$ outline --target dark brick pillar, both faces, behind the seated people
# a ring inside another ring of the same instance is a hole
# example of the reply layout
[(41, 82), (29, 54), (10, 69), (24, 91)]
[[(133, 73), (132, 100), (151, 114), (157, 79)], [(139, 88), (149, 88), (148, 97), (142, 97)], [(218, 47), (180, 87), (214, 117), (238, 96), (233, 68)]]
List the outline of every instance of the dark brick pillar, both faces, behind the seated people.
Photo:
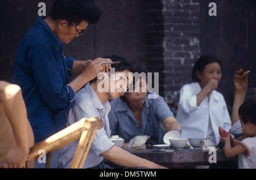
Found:
[(191, 83), (199, 57), (199, 0), (146, 1), (146, 61), (159, 72), (160, 95), (179, 101), (182, 85)]

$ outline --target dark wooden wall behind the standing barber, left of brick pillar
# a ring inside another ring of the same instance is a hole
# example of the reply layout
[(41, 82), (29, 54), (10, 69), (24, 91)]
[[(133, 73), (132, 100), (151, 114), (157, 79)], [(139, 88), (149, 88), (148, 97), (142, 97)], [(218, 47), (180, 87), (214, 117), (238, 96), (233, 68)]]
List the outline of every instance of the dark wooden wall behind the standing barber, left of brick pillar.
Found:
[[(39, 2), (47, 15), (53, 0), (0, 0), (0, 79), (10, 82), (22, 38), (38, 18)], [(94, 59), (119, 54), (132, 62), (144, 62), (144, 1), (96, 0), (102, 16), (85, 35), (64, 45), (66, 57)]]

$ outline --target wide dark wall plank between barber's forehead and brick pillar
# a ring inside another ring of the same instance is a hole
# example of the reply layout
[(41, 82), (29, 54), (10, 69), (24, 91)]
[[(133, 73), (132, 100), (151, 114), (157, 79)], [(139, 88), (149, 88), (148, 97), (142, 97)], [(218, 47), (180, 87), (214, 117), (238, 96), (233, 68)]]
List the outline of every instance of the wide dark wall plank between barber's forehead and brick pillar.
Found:
[(144, 1), (100, 0), (96, 24), (96, 55), (119, 54), (132, 62), (144, 62)]

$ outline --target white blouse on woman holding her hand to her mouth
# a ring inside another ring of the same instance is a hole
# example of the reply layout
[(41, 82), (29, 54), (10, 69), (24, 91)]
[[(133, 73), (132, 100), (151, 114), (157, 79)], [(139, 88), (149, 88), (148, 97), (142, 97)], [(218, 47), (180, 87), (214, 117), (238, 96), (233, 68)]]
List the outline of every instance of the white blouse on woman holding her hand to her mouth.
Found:
[(205, 97), (197, 107), (196, 95), (200, 91), (199, 83), (185, 84), (180, 90), (176, 119), (182, 127), (181, 138), (209, 138), (210, 136), (209, 145), (216, 146), (220, 142), (218, 127), (226, 131), (231, 127), (228, 108), (223, 95), (215, 90), (210, 93), (209, 99)]

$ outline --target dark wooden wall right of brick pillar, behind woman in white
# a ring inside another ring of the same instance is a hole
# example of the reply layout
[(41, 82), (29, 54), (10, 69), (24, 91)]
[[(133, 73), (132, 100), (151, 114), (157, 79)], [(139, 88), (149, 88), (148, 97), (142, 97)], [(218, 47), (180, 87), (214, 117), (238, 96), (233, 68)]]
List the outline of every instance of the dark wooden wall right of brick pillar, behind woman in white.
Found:
[[(217, 16), (209, 16), (209, 3), (216, 2)], [(256, 1), (200, 0), (200, 51), (222, 61), (219, 90), (233, 103), (233, 75), (242, 68), (249, 74), (249, 87), (256, 87)]]

